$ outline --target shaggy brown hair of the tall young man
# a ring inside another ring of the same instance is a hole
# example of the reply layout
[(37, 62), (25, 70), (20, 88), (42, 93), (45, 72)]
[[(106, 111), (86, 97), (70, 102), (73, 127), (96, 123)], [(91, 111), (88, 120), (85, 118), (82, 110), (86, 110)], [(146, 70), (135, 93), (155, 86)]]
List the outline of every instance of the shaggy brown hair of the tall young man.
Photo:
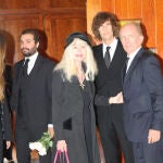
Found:
[(92, 24), (91, 24), (91, 30), (92, 30), (95, 37), (98, 38), (99, 40), (102, 39), (100, 36), (100, 33), (99, 33), (99, 27), (106, 21), (111, 22), (113, 35), (115, 37), (118, 36), (118, 25), (117, 25), (116, 15), (114, 15), (113, 13), (110, 13), (110, 12), (99, 12), (93, 17)]

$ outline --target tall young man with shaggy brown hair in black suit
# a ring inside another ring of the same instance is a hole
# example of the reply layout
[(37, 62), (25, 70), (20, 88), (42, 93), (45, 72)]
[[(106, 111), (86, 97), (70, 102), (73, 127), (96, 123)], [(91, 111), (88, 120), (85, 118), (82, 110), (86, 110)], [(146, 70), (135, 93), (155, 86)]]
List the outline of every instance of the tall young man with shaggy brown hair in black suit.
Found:
[[(124, 131), (123, 104), (121, 103), (123, 102), (121, 72), (126, 53), (117, 38), (118, 28), (115, 15), (109, 12), (98, 13), (92, 21), (92, 32), (102, 41), (101, 45), (93, 47), (99, 70), (96, 77), (95, 102), (105, 162), (121, 163), (122, 149), (125, 163), (134, 163), (131, 145)], [(109, 49), (108, 53), (106, 49)], [(105, 61), (106, 54), (109, 59)]]

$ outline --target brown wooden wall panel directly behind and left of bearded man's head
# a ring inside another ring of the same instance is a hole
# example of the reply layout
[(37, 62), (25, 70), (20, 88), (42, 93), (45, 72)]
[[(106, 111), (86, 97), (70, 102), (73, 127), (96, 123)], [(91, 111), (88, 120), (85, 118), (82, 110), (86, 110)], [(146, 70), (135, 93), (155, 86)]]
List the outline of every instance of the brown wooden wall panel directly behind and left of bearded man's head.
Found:
[(5, 15), (0, 18), (0, 29), (8, 36), (10, 50), (7, 60), (9, 63), (17, 62), (22, 58), (20, 51), (20, 35), (25, 28), (41, 28), (42, 17), (40, 15)]

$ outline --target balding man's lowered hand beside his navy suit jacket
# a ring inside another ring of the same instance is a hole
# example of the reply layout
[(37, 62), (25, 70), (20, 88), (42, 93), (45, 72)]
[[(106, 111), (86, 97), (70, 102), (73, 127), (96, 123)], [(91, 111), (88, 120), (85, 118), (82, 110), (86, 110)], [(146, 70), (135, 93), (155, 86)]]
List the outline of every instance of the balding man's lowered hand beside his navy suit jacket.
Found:
[(161, 138), (161, 131), (160, 130), (149, 129), (148, 143), (154, 143), (154, 142), (159, 141), (160, 138)]

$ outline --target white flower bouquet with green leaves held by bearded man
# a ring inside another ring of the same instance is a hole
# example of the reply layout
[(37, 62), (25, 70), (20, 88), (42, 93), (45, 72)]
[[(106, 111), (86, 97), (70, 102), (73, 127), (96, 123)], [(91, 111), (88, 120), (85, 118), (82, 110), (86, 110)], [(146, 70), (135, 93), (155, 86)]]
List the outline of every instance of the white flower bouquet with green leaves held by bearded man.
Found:
[(43, 133), (39, 140), (29, 142), (29, 149), (37, 150), (39, 155), (46, 155), (50, 147), (52, 147), (52, 140), (48, 133)]

